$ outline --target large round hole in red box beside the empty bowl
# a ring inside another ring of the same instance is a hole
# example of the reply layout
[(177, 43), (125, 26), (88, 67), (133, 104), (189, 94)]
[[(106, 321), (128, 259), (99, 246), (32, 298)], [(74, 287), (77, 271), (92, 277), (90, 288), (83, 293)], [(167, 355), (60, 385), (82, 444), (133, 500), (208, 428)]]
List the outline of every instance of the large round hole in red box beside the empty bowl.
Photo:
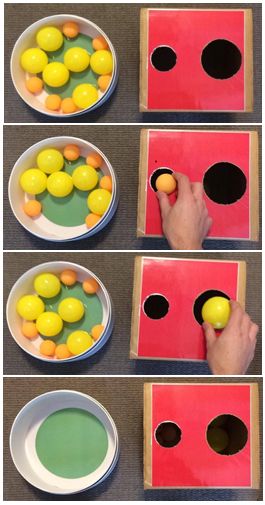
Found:
[(213, 451), (232, 456), (245, 447), (248, 429), (239, 417), (222, 414), (207, 426), (206, 439)]

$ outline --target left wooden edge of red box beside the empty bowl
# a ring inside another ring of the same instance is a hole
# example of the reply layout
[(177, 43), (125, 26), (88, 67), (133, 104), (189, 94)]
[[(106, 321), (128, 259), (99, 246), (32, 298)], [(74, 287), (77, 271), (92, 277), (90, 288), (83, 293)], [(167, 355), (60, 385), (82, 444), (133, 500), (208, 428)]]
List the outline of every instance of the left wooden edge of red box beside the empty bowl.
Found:
[(152, 489), (152, 387), (144, 384), (144, 489)]

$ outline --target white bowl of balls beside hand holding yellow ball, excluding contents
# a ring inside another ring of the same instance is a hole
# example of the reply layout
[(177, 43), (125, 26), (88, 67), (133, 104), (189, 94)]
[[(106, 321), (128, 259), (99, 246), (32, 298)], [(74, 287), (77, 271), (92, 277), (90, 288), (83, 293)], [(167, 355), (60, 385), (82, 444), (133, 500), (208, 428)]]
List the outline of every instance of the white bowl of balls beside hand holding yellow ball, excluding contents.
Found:
[[(103, 309), (103, 319), (102, 324), (104, 326), (104, 331), (100, 337), (100, 339), (95, 342), (95, 344), (88, 350), (74, 358), (67, 359), (56, 359), (56, 358), (48, 358), (43, 356), (40, 353), (40, 344), (42, 342), (41, 337), (37, 337), (34, 340), (27, 339), (22, 331), (22, 318), (16, 311), (16, 306), (18, 300), (26, 295), (26, 294), (34, 294), (34, 279), (36, 275), (40, 273), (54, 273), (56, 275), (63, 272), (63, 270), (74, 270), (77, 273), (77, 280), (79, 282), (83, 282), (88, 277), (93, 277), (99, 284), (100, 288), (97, 292), (97, 295), (101, 301), (102, 309)], [(36, 267), (31, 268), (27, 272), (25, 272), (14, 284), (12, 287), (7, 304), (6, 304), (6, 319), (7, 324), (10, 330), (12, 337), (15, 342), (19, 345), (23, 351), (25, 351), (30, 356), (37, 358), (41, 361), (46, 361), (48, 363), (66, 363), (71, 361), (79, 361), (83, 358), (88, 357), (89, 355), (95, 354), (98, 350), (102, 348), (102, 346), (109, 339), (112, 328), (113, 328), (113, 310), (111, 305), (111, 299), (109, 294), (101, 282), (101, 280), (90, 270), (75, 263), (66, 262), (66, 261), (52, 261), (49, 263), (42, 263)], [(104, 344), (103, 344), (104, 342)], [(93, 352), (92, 352), (93, 351)]]

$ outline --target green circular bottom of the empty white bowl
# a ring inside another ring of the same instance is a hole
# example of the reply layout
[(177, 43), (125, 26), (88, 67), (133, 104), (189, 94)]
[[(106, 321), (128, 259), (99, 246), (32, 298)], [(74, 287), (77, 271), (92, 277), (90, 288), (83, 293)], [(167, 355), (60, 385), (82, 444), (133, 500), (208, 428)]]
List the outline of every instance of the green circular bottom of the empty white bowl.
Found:
[(43, 466), (66, 479), (84, 477), (104, 461), (108, 450), (105, 427), (90, 412), (67, 408), (48, 416), (37, 432), (36, 452)]

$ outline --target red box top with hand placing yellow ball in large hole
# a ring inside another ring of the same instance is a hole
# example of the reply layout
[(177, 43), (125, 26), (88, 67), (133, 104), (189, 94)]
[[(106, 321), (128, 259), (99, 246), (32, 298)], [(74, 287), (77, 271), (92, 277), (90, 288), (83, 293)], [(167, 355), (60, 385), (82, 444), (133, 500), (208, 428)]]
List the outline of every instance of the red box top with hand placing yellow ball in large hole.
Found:
[[(143, 258), (138, 357), (204, 360), (205, 337), (193, 314), (196, 298), (209, 289), (237, 299), (238, 263)], [(169, 302), (162, 319), (149, 318), (144, 301), (154, 293)]]

